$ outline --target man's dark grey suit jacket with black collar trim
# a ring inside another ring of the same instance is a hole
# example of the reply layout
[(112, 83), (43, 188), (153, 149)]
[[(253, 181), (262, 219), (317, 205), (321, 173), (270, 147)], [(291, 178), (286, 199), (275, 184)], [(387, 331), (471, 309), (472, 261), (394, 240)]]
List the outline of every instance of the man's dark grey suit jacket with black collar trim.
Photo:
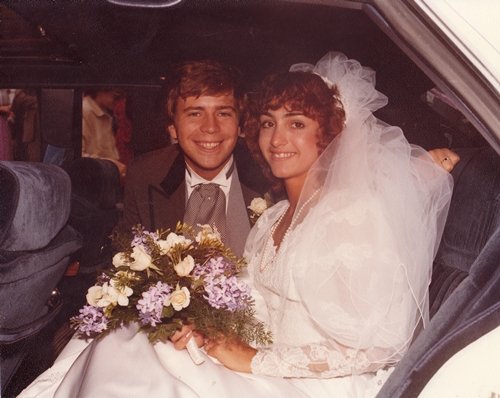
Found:
[[(248, 215), (246, 206), (253, 198), (262, 197), (269, 189), (269, 183), (242, 139), (238, 140), (233, 155), (244, 199), (244, 204), (239, 204), (238, 210), (239, 214), (244, 212)], [(159, 228), (175, 230), (177, 222), (184, 218), (186, 206), (185, 168), (184, 156), (177, 145), (135, 159), (127, 171), (124, 216), (118, 229), (129, 232), (132, 226), (140, 223), (148, 231)], [(237, 197), (237, 194), (233, 195), (232, 186), (229, 207)], [(249, 229), (250, 220), (245, 218), (245, 222), (248, 222), (246, 229)], [(228, 223), (232, 221), (228, 219)], [(233, 250), (237, 252), (235, 248)]]

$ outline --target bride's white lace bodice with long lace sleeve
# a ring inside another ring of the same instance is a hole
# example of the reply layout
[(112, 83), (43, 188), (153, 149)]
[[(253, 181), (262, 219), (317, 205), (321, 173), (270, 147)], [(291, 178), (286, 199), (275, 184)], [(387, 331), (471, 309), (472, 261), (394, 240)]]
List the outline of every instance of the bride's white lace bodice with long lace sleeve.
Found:
[[(278, 203), (266, 214), (267, 217), (259, 220), (255, 228), (270, 231), (276, 218), (285, 210), (286, 202)], [(359, 218), (363, 217), (359, 205), (351, 206), (347, 211), (350, 222), (358, 223)], [(343, 218), (339, 214), (334, 214), (334, 217), (338, 221)], [(292, 232), (293, 235), (301, 233), (304, 233), (301, 228)], [(260, 348), (254, 357), (253, 373), (279, 377), (331, 378), (376, 371), (383, 367), (386, 362), (379, 359), (391, 355), (387, 347), (349, 347), (332, 339), (312, 319), (301, 302), (293, 277), (293, 272), (302, 270), (301, 277), (307, 278), (309, 267), (309, 264), (297, 264), (298, 247), (293, 235), (284, 239), (274, 262), (264, 272), (261, 271), (261, 263), (266, 264), (276, 254), (275, 247), (270, 245), (268, 250), (262, 250), (267, 253), (267, 258), (263, 259), (261, 254), (249, 259), (249, 273), (266, 303), (267, 319), (274, 335), (272, 347)], [(365, 249), (370, 250), (369, 247)], [(311, 256), (314, 256), (314, 248), (311, 248)], [(311, 260), (313, 263), (314, 260)], [(291, 267), (290, 264), (295, 266)], [(337, 310), (339, 317), (341, 310)], [(345, 316), (349, 318), (347, 314)], [(349, 320), (344, 323), (348, 324)]]

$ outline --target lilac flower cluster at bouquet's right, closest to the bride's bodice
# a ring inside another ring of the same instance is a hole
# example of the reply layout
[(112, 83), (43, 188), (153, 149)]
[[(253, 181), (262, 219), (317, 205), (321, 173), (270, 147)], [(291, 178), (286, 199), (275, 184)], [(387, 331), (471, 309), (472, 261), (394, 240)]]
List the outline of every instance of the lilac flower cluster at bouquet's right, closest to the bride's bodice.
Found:
[(203, 297), (214, 308), (234, 312), (246, 308), (252, 298), (250, 286), (234, 276), (234, 266), (222, 257), (210, 259), (204, 266), (198, 265), (193, 274), (205, 282), (207, 295)]

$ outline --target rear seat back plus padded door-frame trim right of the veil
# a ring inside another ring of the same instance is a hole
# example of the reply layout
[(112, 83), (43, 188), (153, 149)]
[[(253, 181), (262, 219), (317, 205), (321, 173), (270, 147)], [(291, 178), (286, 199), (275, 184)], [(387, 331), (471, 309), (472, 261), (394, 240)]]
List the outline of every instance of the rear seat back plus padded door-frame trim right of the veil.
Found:
[(491, 148), (457, 152), (430, 288), (435, 315), (377, 398), (417, 397), (451, 356), (500, 325), (500, 156)]

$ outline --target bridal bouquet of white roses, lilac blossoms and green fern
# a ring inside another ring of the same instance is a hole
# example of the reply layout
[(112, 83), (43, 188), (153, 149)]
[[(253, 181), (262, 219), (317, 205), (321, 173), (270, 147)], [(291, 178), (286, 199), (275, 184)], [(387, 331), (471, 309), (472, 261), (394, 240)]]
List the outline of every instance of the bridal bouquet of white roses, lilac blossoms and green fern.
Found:
[(246, 265), (208, 225), (196, 236), (178, 224), (175, 232), (118, 234), (114, 268), (104, 270), (88, 290), (87, 305), (72, 327), (87, 336), (105, 335), (137, 322), (149, 341), (165, 341), (183, 324), (206, 335), (268, 344), (271, 335), (254, 320), (250, 288), (237, 278)]

